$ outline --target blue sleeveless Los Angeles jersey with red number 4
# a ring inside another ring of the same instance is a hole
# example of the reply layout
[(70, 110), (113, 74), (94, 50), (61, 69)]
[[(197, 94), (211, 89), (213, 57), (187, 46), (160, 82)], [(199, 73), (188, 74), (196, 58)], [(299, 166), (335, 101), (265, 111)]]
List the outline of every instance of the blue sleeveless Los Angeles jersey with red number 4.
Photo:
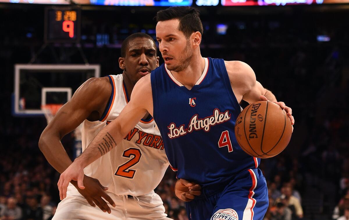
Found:
[(191, 90), (165, 65), (152, 71), (150, 78), (153, 116), (171, 168), (178, 178), (209, 186), (257, 168), (260, 159), (246, 154), (236, 141), (234, 126), (241, 108), (224, 60), (205, 61), (205, 70)]

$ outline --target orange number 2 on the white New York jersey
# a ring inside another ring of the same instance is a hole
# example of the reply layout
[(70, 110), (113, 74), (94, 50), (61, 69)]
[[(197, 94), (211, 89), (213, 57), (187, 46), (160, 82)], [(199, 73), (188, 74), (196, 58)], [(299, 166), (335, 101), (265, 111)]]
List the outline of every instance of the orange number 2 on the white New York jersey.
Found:
[(118, 167), (115, 175), (123, 176), (129, 179), (133, 178), (134, 174), (136, 173), (136, 170), (129, 169), (129, 168), (139, 162), (139, 160), (141, 159), (142, 153), (139, 149), (129, 148), (124, 151), (124, 154), (122, 154), (122, 157), (131, 158), (131, 156), (133, 156), (131, 160), (127, 161), (125, 164), (122, 164), (121, 166)]

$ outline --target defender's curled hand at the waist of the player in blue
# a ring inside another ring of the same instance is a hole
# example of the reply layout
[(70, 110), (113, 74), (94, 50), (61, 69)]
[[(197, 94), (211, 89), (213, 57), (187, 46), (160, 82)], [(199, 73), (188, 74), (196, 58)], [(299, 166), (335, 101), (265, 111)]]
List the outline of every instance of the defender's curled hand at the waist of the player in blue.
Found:
[(174, 193), (184, 202), (190, 202), (195, 196), (201, 195), (201, 186), (184, 179), (179, 179), (174, 186)]

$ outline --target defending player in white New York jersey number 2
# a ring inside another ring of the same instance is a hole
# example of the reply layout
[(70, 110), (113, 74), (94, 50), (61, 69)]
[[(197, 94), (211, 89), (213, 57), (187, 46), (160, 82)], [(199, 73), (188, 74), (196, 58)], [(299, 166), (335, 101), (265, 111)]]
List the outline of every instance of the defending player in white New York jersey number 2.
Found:
[[(58, 172), (72, 163), (60, 139), (83, 123), (84, 151), (98, 132), (118, 117), (135, 83), (158, 67), (158, 60), (154, 40), (143, 33), (133, 34), (121, 47), (119, 66), (123, 74), (91, 78), (76, 90), (39, 140), (40, 150)], [(105, 138), (110, 144), (101, 145), (101, 150), (109, 151), (113, 139)], [(86, 175), (80, 185), (84, 189), (75, 181), (69, 184), (67, 197), (59, 203), (53, 219), (169, 219), (154, 192), (168, 165), (159, 130), (147, 113), (112, 153), (84, 169)], [(181, 199), (200, 194), (199, 185), (186, 182), (189, 190), (183, 183), (176, 184), (176, 195)]]

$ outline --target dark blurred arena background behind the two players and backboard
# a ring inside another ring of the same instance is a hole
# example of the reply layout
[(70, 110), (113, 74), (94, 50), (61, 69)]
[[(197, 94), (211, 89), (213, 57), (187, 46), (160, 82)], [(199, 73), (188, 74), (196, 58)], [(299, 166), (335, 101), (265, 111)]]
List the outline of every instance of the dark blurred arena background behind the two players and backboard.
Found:
[[(122, 40), (140, 31), (155, 37), (153, 17), (163, 9), (82, 6), (80, 44), (50, 43), (37, 54), (44, 45), (45, 7), (0, 4), (0, 208), (15, 197), (23, 219), (29, 219), (25, 213), (45, 207), (49, 213), (47, 206), (57, 205), (59, 175), (37, 145), (45, 118), (11, 114), (14, 64), (29, 63), (35, 55), (34, 63), (82, 64), (77, 48), (81, 46), (89, 63), (101, 65), (101, 76), (120, 74)], [(269, 196), (280, 190), (281, 195), (282, 187), (291, 182), (301, 196), (304, 219), (332, 219), (335, 206), (343, 215), (349, 208), (348, 5), (199, 9), (202, 55), (246, 62), (257, 80), (293, 109), (296, 122), (289, 146), (260, 165)], [(217, 35), (217, 24), (228, 24), (226, 35)], [(318, 35), (331, 40), (318, 42)], [(62, 143), (72, 155), (73, 136), (67, 135)], [(168, 171), (156, 191), (170, 216), (184, 219), (183, 203), (173, 198), (174, 181), (175, 173)], [(40, 207), (30, 200), (34, 197), (40, 203), (45, 195), (50, 196), (48, 205)], [(266, 219), (275, 217), (275, 205), (272, 200)]]

